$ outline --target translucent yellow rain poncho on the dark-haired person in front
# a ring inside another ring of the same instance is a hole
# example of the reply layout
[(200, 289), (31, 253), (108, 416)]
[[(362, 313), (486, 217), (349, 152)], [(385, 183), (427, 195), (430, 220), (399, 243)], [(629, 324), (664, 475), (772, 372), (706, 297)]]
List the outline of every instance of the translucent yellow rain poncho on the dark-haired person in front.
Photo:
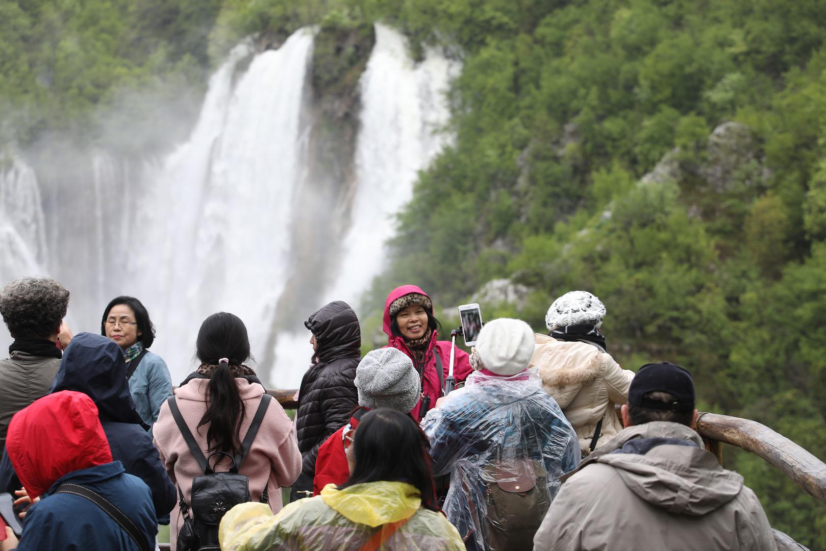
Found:
[(377, 549), (464, 551), (444, 515), (420, 505), (419, 491), (405, 482), (344, 490), (328, 484), (320, 496), (294, 501), (274, 516), (263, 503), (237, 505), (221, 520), (218, 537), (223, 551), (358, 551), (382, 525), (410, 517)]

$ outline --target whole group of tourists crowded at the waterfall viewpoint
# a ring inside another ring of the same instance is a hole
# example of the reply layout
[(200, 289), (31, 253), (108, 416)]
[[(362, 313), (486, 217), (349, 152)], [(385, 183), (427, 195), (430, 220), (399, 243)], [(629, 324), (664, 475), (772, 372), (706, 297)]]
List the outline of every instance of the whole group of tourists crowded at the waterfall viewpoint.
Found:
[(112, 300), (100, 335), (73, 335), (68, 303), (50, 278), (0, 290), (0, 551), (150, 551), (159, 524), (177, 551), (776, 549), (694, 430), (691, 373), (620, 368), (589, 292), (554, 301), (547, 333), (487, 322), (470, 354), (439, 340), (420, 287), (390, 292), (387, 346), (363, 358), (358, 317), (330, 302), (305, 322), (294, 420), (239, 317), (202, 322), (173, 391), (139, 300)]

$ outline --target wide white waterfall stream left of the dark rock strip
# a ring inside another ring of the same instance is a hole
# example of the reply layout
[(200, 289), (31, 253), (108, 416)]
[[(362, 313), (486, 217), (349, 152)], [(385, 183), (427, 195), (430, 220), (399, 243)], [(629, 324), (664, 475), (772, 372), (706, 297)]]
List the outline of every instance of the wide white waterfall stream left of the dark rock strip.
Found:
[(280, 49), (254, 56), (235, 86), (249, 49), (233, 50), (211, 78), (190, 139), (166, 160), (143, 202), (139, 225), (159, 250), (139, 254), (144, 265), (136, 268), (157, 268), (145, 287), (146, 296), (164, 295), (155, 314), (164, 346), (154, 349), (179, 377), (201, 321), (215, 311), (244, 320), (254, 356), (263, 356), (287, 279), (312, 41), (311, 31), (298, 31)]

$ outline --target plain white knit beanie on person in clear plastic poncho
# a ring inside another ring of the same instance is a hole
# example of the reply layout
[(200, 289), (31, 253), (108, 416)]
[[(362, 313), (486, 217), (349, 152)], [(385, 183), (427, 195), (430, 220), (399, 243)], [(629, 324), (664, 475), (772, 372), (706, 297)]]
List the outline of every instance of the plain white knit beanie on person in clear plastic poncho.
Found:
[(474, 368), (510, 377), (528, 367), (534, 355), (534, 331), (525, 321), (501, 317), (482, 327), (473, 349), (482, 362)]

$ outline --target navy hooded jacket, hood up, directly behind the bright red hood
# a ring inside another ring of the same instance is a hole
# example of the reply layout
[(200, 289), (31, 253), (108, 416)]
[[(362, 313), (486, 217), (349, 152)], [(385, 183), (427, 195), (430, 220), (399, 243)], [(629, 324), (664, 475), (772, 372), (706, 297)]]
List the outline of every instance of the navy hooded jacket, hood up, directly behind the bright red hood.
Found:
[[(155, 514), (159, 518), (168, 515), (175, 506), (175, 486), (152, 444), (152, 437), (146, 432), (149, 427), (135, 411), (121, 347), (102, 335), (74, 335), (49, 392), (62, 390), (83, 392), (92, 398), (109, 440), (112, 458), (123, 463), (126, 473), (139, 477), (150, 487)], [(0, 486), (12, 484), (10, 468), (4, 453)]]

